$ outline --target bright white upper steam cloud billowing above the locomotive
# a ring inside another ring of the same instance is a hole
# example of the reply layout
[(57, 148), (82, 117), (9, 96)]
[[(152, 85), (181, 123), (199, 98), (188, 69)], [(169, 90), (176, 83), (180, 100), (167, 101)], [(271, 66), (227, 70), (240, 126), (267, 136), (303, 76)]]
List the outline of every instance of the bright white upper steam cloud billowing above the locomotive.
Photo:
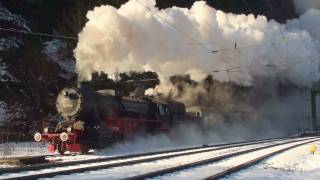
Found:
[(189, 73), (194, 80), (211, 74), (245, 86), (261, 76), (301, 86), (319, 79), (318, 10), (282, 25), (264, 16), (224, 13), (203, 1), (164, 10), (155, 0), (147, 2), (88, 12), (74, 51), (80, 79), (95, 71), (144, 70), (161, 78)]

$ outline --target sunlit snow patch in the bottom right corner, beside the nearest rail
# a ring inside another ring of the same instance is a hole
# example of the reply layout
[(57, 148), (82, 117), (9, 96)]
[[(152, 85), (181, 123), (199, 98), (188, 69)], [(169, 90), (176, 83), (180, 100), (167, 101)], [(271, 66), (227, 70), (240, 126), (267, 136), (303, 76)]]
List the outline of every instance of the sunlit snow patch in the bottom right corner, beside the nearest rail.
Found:
[(310, 154), (309, 146), (320, 150), (320, 142), (306, 144), (273, 156), (258, 165), (225, 179), (320, 179), (320, 152)]

